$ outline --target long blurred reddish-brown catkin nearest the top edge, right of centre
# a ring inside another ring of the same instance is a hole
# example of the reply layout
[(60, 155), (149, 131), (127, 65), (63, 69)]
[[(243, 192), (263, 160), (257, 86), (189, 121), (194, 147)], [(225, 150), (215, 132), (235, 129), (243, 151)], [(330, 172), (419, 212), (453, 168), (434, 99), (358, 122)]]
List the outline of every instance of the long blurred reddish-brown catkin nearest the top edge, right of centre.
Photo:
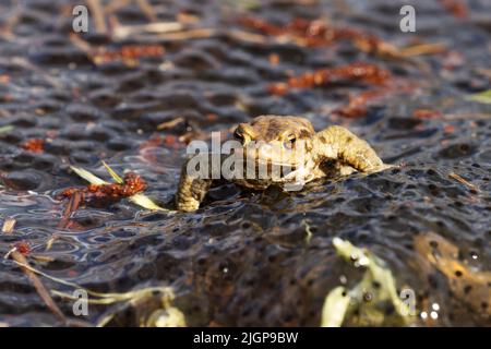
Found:
[(252, 16), (243, 16), (239, 22), (243, 26), (254, 28), (265, 35), (290, 36), (295, 41), (309, 47), (326, 46), (337, 40), (349, 40), (364, 52), (394, 53), (396, 51), (394, 46), (382, 41), (372, 34), (354, 28), (333, 27), (321, 20), (294, 19), (283, 26), (270, 24)]

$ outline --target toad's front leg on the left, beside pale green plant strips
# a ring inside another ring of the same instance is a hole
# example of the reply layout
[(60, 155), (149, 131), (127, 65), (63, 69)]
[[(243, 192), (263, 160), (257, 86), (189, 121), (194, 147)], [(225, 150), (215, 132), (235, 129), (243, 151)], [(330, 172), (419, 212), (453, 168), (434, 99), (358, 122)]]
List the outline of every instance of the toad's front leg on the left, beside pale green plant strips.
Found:
[(203, 178), (199, 173), (190, 172), (188, 159), (182, 166), (181, 178), (176, 193), (176, 208), (183, 212), (193, 212), (200, 208), (200, 204), (212, 185), (212, 179)]

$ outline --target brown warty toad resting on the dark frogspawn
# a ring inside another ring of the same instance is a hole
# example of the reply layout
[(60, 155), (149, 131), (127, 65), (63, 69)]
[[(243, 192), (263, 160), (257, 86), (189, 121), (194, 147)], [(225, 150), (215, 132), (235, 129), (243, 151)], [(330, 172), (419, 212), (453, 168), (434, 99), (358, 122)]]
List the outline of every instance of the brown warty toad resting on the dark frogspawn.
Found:
[[(238, 147), (230, 152), (236, 156), (230, 167), (232, 176), (223, 177), (255, 190), (272, 184), (299, 190), (318, 178), (346, 176), (356, 170), (374, 172), (390, 167), (366, 141), (349, 130), (333, 125), (315, 133), (304, 118), (262, 116), (239, 124), (233, 135), (240, 143), (236, 142)], [(209, 154), (205, 157), (211, 159)], [(221, 157), (220, 164), (224, 164)], [(208, 176), (191, 173), (189, 164), (190, 160), (182, 167), (176, 195), (177, 209), (184, 212), (199, 208), (213, 181), (209, 170), (206, 170)], [(224, 171), (223, 167), (220, 169)]]

